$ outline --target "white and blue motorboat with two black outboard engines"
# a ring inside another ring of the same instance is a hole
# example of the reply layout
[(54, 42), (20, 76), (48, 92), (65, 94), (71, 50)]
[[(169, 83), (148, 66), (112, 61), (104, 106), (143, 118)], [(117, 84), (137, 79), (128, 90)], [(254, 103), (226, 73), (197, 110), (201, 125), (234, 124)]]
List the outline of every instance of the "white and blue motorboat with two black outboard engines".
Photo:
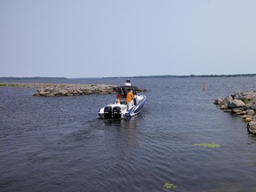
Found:
[[(104, 108), (100, 108), (98, 114), (100, 118), (105, 119), (120, 119), (120, 118), (130, 118), (136, 116), (140, 113), (143, 108), (147, 97), (145, 95), (137, 95), (138, 87), (132, 86), (130, 80), (126, 80), (124, 86), (119, 86), (114, 88), (116, 91), (116, 98), (120, 102), (110, 103)], [(133, 92), (133, 102), (128, 107), (126, 96), (127, 93), (132, 90)]]

